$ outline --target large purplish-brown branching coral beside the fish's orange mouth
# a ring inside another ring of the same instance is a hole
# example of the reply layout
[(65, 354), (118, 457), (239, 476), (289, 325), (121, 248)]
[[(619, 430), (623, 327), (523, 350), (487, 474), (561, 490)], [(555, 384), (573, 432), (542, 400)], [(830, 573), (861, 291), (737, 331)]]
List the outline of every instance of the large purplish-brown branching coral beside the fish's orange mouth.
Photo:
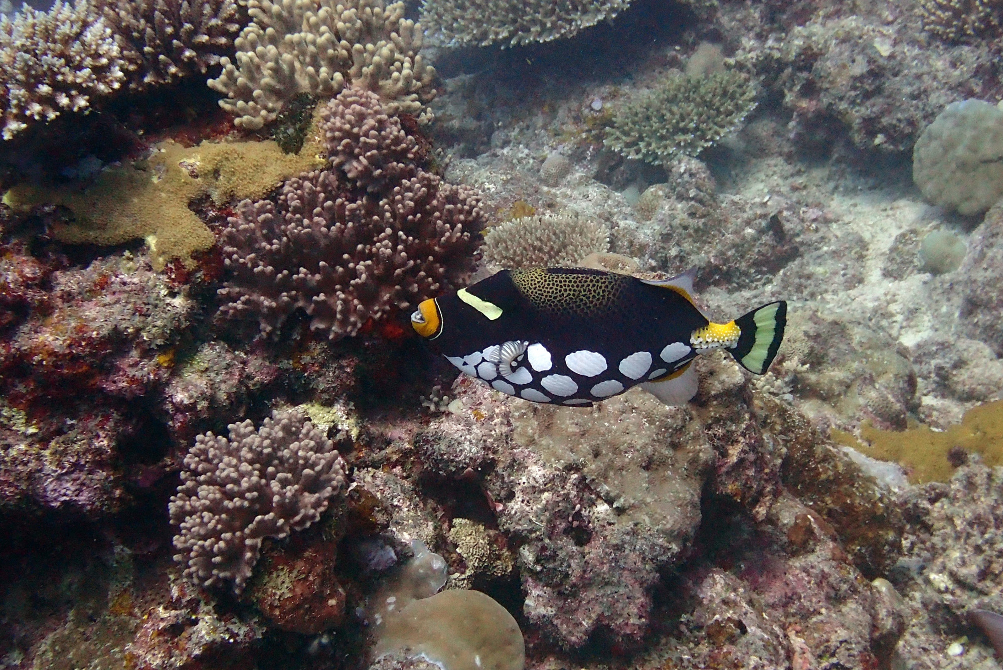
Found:
[(480, 243), (474, 192), (422, 170), (375, 94), (341, 93), (325, 132), (332, 171), (289, 180), (277, 204), (244, 201), (223, 233), (221, 313), (257, 318), (266, 335), (296, 309), (331, 339), (354, 335), (462, 283)]

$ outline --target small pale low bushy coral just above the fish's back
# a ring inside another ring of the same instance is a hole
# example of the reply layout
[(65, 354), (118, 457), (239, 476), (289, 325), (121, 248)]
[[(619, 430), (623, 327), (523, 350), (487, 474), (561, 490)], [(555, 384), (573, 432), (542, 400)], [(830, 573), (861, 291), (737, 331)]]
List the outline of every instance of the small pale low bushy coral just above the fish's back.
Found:
[(576, 265), (609, 249), (606, 229), (576, 214), (514, 219), (484, 236), (484, 262), (509, 269)]

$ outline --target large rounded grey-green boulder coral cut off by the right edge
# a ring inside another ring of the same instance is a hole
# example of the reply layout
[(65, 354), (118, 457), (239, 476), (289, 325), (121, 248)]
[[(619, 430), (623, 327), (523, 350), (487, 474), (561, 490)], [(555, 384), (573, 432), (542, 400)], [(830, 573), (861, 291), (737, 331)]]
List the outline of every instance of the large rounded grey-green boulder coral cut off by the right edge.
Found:
[(933, 204), (981, 214), (1003, 196), (1003, 109), (952, 102), (913, 148), (913, 181)]

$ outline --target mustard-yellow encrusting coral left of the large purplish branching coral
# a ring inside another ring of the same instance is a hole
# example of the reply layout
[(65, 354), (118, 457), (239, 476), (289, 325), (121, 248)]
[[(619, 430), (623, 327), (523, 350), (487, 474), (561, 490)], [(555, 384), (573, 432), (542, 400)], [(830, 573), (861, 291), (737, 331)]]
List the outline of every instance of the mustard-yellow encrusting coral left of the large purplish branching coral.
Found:
[(317, 140), (299, 153), (284, 153), (274, 141), (211, 142), (185, 147), (157, 145), (145, 160), (102, 172), (89, 188), (19, 185), (5, 202), (15, 209), (52, 203), (69, 208), (76, 221), (53, 227), (68, 244), (117, 245), (143, 239), (156, 269), (172, 258), (192, 263), (192, 254), (216, 238), (189, 204), (209, 196), (218, 205), (262, 198), (283, 180), (323, 164)]

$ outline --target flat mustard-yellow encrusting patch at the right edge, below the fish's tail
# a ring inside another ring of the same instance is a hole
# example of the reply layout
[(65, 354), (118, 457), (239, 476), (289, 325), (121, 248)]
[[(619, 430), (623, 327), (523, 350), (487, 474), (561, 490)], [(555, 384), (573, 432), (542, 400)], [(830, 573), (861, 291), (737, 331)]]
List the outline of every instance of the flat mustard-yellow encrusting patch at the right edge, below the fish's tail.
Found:
[(973, 407), (960, 424), (943, 431), (925, 425), (882, 430), (865, 421), (860, 438), (832, 430), (832, 439), (872, 458), (898, 462), (914, 483), (947, 481), (965, 452), (981, 454), (989, 466), (1003, 465), (1003, 400)]

